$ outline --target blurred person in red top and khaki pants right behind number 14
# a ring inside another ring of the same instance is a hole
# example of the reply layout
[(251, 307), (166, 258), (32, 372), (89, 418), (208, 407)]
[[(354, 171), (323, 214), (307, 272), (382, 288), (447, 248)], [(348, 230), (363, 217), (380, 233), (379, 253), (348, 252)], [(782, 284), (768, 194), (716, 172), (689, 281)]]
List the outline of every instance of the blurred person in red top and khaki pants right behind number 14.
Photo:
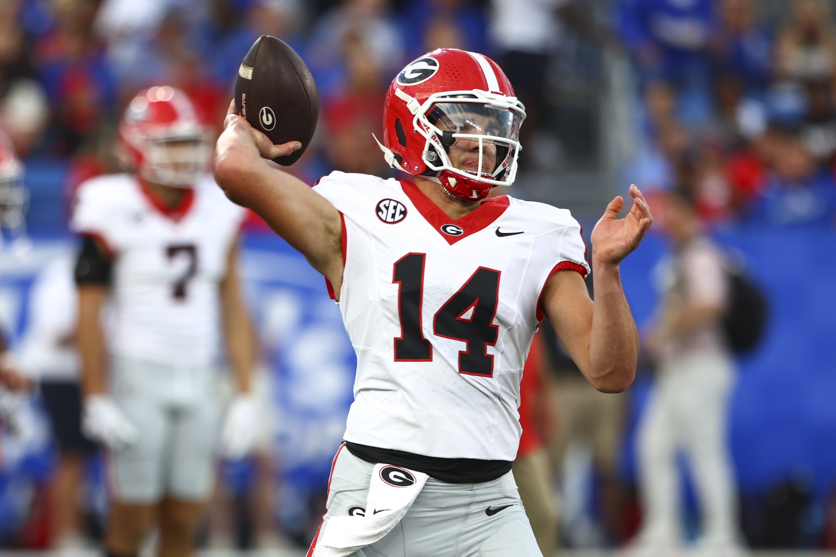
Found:
[(558, 501), (545, 449), (545, 439), (552, 436), (554, 413), (545, 383), (548, 370), (543, 344), (540, 330), (534, 334), (520, 381), (519, 414), (523, 434), (511, 469), (538, 547), (543, 555), (551, 556), (558, 550)]

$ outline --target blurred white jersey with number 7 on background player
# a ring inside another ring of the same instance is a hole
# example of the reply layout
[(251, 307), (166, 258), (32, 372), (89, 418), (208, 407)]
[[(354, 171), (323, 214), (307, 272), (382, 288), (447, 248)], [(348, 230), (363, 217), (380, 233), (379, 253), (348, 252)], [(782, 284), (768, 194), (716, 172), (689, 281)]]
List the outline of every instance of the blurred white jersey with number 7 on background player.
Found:
[(170, 365), (205, 366), (221, 341), (219, 285), (244, 210), (211, 176), (166, 212), (134, 176), (79, 186), (70, 227), (114, 257), (110, 351)]

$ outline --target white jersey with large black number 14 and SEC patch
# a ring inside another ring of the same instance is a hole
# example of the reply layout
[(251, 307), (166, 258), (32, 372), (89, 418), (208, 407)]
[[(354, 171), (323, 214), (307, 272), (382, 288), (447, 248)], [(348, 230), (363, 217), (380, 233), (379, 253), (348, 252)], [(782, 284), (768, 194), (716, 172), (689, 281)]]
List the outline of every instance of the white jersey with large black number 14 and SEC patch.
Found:
[(411, 182), (360, 174), (314, 190), (344, 222), (339, 307), (357, 352), (345, 440), (512, 461), (543, 286), (589, 271), (578, 222), (507, 196), (452, 221)]

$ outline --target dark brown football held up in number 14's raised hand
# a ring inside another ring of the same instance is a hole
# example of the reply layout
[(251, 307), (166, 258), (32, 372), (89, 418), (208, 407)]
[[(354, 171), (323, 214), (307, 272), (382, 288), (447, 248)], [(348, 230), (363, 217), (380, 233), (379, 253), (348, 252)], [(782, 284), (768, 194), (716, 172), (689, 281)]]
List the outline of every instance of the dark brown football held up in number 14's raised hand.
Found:
[(235, 110), (278, 145), (299, 141), (302, 148), (273, 161), (290, 166), (299, 160), (319, 118), (319, 93), (308, 66), (287, 43), (262, 35), (238, 68)]

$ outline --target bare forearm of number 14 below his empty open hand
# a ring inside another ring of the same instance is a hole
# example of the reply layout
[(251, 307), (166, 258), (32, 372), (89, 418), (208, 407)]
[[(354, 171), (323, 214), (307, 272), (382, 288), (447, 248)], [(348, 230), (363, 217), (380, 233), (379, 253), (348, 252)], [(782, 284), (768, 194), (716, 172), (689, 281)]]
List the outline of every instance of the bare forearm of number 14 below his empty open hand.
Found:
[(595, 306), (588, 377), (599, 391), (621, 392), (633, 382), (639, 334), (621, 287), (619, 266), (593, 261)]

